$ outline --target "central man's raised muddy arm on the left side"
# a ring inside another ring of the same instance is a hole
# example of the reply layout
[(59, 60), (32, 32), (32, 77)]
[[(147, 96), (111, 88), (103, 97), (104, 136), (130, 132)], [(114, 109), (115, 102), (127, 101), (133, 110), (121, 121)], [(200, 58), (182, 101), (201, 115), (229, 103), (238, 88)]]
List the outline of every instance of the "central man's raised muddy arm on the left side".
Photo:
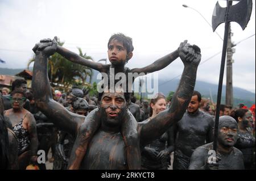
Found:
[(32, 77), (32, 90), (36, 106), (56, 127), (76, 135), (77, 128), (85, 117), (66, 110), (61, 104), (52, 99), (51, 86), (47, 74), (47, 58), (56, 50), (57, 44), (45, 42), (36, 44), (33, 48), (36, 56)]

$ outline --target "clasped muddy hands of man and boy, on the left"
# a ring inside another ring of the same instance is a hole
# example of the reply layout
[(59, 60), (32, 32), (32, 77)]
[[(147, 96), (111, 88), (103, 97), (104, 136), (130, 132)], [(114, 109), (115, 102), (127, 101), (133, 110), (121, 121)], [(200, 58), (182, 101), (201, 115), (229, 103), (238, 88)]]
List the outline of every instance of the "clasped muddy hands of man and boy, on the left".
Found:
[(40, 40), (40, 43), (37, 43), (32, 50), (35, 53), (42, 52), (47, 56), (51, 56), (57, 50), (57, 37), (55, 36), (53, 40), (51, 39)]

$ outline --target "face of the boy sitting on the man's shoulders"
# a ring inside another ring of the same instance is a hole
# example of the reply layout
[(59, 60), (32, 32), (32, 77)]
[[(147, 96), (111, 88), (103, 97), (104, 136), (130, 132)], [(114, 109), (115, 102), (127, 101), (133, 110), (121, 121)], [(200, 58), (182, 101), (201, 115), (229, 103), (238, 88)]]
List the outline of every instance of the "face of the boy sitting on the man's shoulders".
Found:
[(123, 47), (123, 43), (112, 40), (108, 47), (109, 61), (113, 65), (125, 65), (127, 58), (127, 50)]

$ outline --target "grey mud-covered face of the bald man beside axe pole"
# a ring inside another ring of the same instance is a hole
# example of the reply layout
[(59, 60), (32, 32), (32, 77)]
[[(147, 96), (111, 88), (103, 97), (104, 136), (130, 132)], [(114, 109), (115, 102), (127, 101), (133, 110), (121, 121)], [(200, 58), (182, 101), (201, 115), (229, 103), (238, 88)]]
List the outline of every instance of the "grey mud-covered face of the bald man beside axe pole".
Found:
[(218, 142), (225, 146), (234, 146), (237, 142), (237, 123), (236, 121), (225, 120), (219, 125)]

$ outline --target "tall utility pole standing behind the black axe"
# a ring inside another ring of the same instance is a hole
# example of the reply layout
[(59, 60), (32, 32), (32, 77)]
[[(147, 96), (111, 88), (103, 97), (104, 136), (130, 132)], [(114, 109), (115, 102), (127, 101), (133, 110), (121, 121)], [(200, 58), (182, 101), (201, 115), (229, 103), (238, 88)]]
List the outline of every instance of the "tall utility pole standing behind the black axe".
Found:
[(232, 47), (231, 36), (233, 33), (231, 32), (231, 28), (229, 26), (228, 33), (228, 45), (226, 48), (226, 105), (233, 107), (233, 79), (232, 79), (232, 64), (234, 60), (232, 60), (232, 56), (234, 50)]

